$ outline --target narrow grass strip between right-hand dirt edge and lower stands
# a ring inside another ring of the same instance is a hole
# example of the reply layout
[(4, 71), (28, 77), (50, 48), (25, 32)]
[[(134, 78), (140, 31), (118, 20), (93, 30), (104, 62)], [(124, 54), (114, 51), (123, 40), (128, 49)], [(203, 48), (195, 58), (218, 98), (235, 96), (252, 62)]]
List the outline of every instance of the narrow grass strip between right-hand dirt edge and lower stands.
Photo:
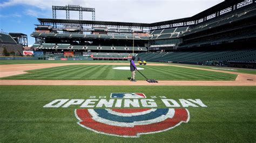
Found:
[[(232, 71), (235, 73), (244, 73), (244, 74), (254, 74), (256, 75), (256, 69), (245, 69), (245, 68), (232, 68), (232, 67), (216, 67), (216, 66), (201, 66), (201, 65), (188, 65), (188, 64), (180, 64), (180, 63), (167, 63), (169, 65), (178, 65), (184, 67), (196, 67), (196, 68), (205, 68), (205, 69), (214, 69), (214, 70), (221, 70), (221, 71)], [(234, 70), (225, 70), (225, 69), (234, 69)]]

